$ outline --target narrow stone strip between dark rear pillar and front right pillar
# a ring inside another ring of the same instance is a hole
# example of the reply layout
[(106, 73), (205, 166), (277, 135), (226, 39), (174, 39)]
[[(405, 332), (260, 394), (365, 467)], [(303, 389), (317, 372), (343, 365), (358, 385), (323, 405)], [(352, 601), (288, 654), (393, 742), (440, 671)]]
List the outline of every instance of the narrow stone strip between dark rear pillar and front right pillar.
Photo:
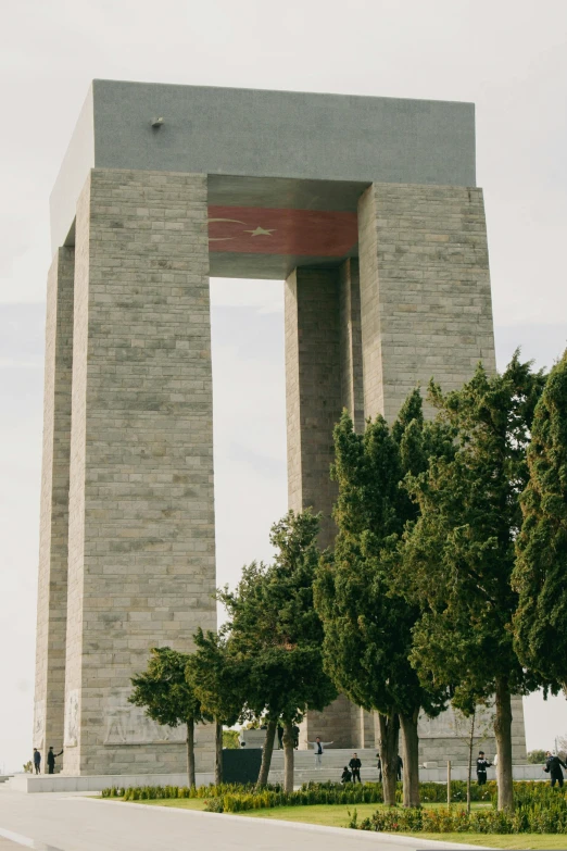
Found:
[(358, 260), (345, 260), (339, 268), (341, 400), (354, 423), (364, 431), (364, 388), (361, 330), (361, 281)]

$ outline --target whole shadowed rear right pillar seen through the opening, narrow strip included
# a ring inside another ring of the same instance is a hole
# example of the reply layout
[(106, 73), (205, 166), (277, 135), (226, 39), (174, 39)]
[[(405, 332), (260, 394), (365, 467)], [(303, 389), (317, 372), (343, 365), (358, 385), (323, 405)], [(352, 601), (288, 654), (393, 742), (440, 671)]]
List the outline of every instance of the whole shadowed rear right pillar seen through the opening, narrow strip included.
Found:
[[(362, 358), (356, 261), (339, 270), (297, 268), (286, 281), (286, 391), (289, 506), (324, 514), (319, 542), (332, 543), (337, 486), (330, 480), (332, 429), (342, 408), (362, 421)], [(310, 710), (300, 742), (320, 736), (348, 748), (360, 711), (344, 694), (325, 712)]]

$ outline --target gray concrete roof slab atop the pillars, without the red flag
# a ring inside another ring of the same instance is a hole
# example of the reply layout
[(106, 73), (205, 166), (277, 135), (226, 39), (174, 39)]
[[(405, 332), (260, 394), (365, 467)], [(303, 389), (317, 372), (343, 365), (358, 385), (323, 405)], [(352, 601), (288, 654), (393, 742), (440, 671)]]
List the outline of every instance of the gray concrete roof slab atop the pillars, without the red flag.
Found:
[[(152, 127), (158, 117), (163, 124)], [(373, 180), (475, 186), (475, 108), (94, 80), (51, 196), (53, 251), (73, 240), (76, 200), (92, 167), (204, 173), (217, 208), (354, 212)], [(344, 255), (352, 253), (355, 246)], [(293, 264), (331, 262), (226, 251), (212, 251), (211, 261), (213, 275), (236, 277), (282, 277)]]

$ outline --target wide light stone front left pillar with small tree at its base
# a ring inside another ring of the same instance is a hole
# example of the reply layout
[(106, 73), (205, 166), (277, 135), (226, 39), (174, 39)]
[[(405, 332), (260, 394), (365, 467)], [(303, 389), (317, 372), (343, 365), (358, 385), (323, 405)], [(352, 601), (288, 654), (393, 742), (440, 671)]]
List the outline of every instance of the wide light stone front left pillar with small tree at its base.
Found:
[[(216, 627), (206, 216), (200, 174), (93, 170), (78, 200), (65, 774), (185, 771), (127, 698)], [(198, 772), (212, 750), (199, 727)]]

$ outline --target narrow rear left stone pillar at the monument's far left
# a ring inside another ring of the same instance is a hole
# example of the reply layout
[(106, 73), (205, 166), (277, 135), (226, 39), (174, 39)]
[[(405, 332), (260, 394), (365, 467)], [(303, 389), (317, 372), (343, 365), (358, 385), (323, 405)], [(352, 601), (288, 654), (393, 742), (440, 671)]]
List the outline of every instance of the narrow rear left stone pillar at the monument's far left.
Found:
[(63, 744), (74, 265), (74, 249), (60, 248), (47, 292), (34, 712), (34, 747), (41, 751), (43, 769), (49, 746), (61, 750)]

